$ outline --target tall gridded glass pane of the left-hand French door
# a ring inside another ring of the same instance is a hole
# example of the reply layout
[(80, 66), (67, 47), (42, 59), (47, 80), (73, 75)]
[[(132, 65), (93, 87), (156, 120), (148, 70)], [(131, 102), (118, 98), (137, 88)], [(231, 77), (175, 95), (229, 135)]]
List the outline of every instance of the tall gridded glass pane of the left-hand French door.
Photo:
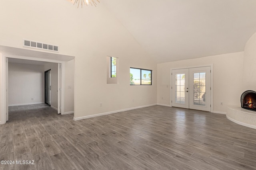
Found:
[(185, 74), (175, 75), (175, 102), (185, 104)]

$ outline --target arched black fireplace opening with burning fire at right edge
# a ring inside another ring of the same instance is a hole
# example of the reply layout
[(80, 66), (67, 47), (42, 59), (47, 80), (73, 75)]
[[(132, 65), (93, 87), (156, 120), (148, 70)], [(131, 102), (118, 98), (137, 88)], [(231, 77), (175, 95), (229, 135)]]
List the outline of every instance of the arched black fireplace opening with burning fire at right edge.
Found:
[(241, 107), (256, 111), (256, 92), (252, 90), (245, 91), (241, 96)]

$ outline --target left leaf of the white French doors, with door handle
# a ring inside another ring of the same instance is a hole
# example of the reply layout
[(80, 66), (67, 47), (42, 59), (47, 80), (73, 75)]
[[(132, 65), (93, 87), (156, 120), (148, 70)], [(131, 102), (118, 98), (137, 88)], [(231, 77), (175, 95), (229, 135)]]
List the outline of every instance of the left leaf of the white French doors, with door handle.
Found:
[(189, 70), (172, 70), (172, 106), (189, 108)]

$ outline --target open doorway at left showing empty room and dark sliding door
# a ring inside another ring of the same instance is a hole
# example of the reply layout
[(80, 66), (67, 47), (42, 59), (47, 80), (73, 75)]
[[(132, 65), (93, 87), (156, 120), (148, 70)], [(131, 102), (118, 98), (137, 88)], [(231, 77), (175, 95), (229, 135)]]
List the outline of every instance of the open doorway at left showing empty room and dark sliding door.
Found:
[[(12, 109), (50, 106), (61, 113), (60, 63), (7, 58), (8, 118)], [(47, 105), (45, 105), (47, 104)]]

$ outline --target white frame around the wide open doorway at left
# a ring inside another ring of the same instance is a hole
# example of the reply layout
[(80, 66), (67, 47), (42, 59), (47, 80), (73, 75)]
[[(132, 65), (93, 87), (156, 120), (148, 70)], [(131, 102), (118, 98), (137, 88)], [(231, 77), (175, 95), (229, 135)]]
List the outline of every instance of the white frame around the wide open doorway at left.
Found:
[[(41, 53), (37, 51), (38, 53)], [(35, 58), (35, 57), (25, 57), (25, 56), (20, 56), (20, 55), (11, 55), (8, 53), (0, 53), (0, 59), (1, 59), (1, 64), (0, 64), (0, 69), (1, 69), (1, 82), (0, 82), (0, 87), (1, 87), (1, 95), (0, 95), (0, 117), (1, 121), (0, 124), (6, 123), (8, 120), (8, 58), (15, 58), (15, 59), (25, 59), (25, 60), (33, 60), (33, 61), (45, 61), (45, 62), (50, 62), (50, 63), (60, 63), (61, 64), (61, 75), (59, 75), (59, 80), (61, 80), (59, 84), (62, 84), (62, 87), (65, 86), (65, 61), (59, 61), (59, 60), (52, 60), (52, 59), (44, 59), (44, 58)], [(58, 89), (60, 89), (58, 87)], [(58, 93), (58, 96), (60, 96), (60, 102), (58, 102), (58, 114), (64, 114), (65, 113), (65, 88), (60, 90), (60, 93)]]

